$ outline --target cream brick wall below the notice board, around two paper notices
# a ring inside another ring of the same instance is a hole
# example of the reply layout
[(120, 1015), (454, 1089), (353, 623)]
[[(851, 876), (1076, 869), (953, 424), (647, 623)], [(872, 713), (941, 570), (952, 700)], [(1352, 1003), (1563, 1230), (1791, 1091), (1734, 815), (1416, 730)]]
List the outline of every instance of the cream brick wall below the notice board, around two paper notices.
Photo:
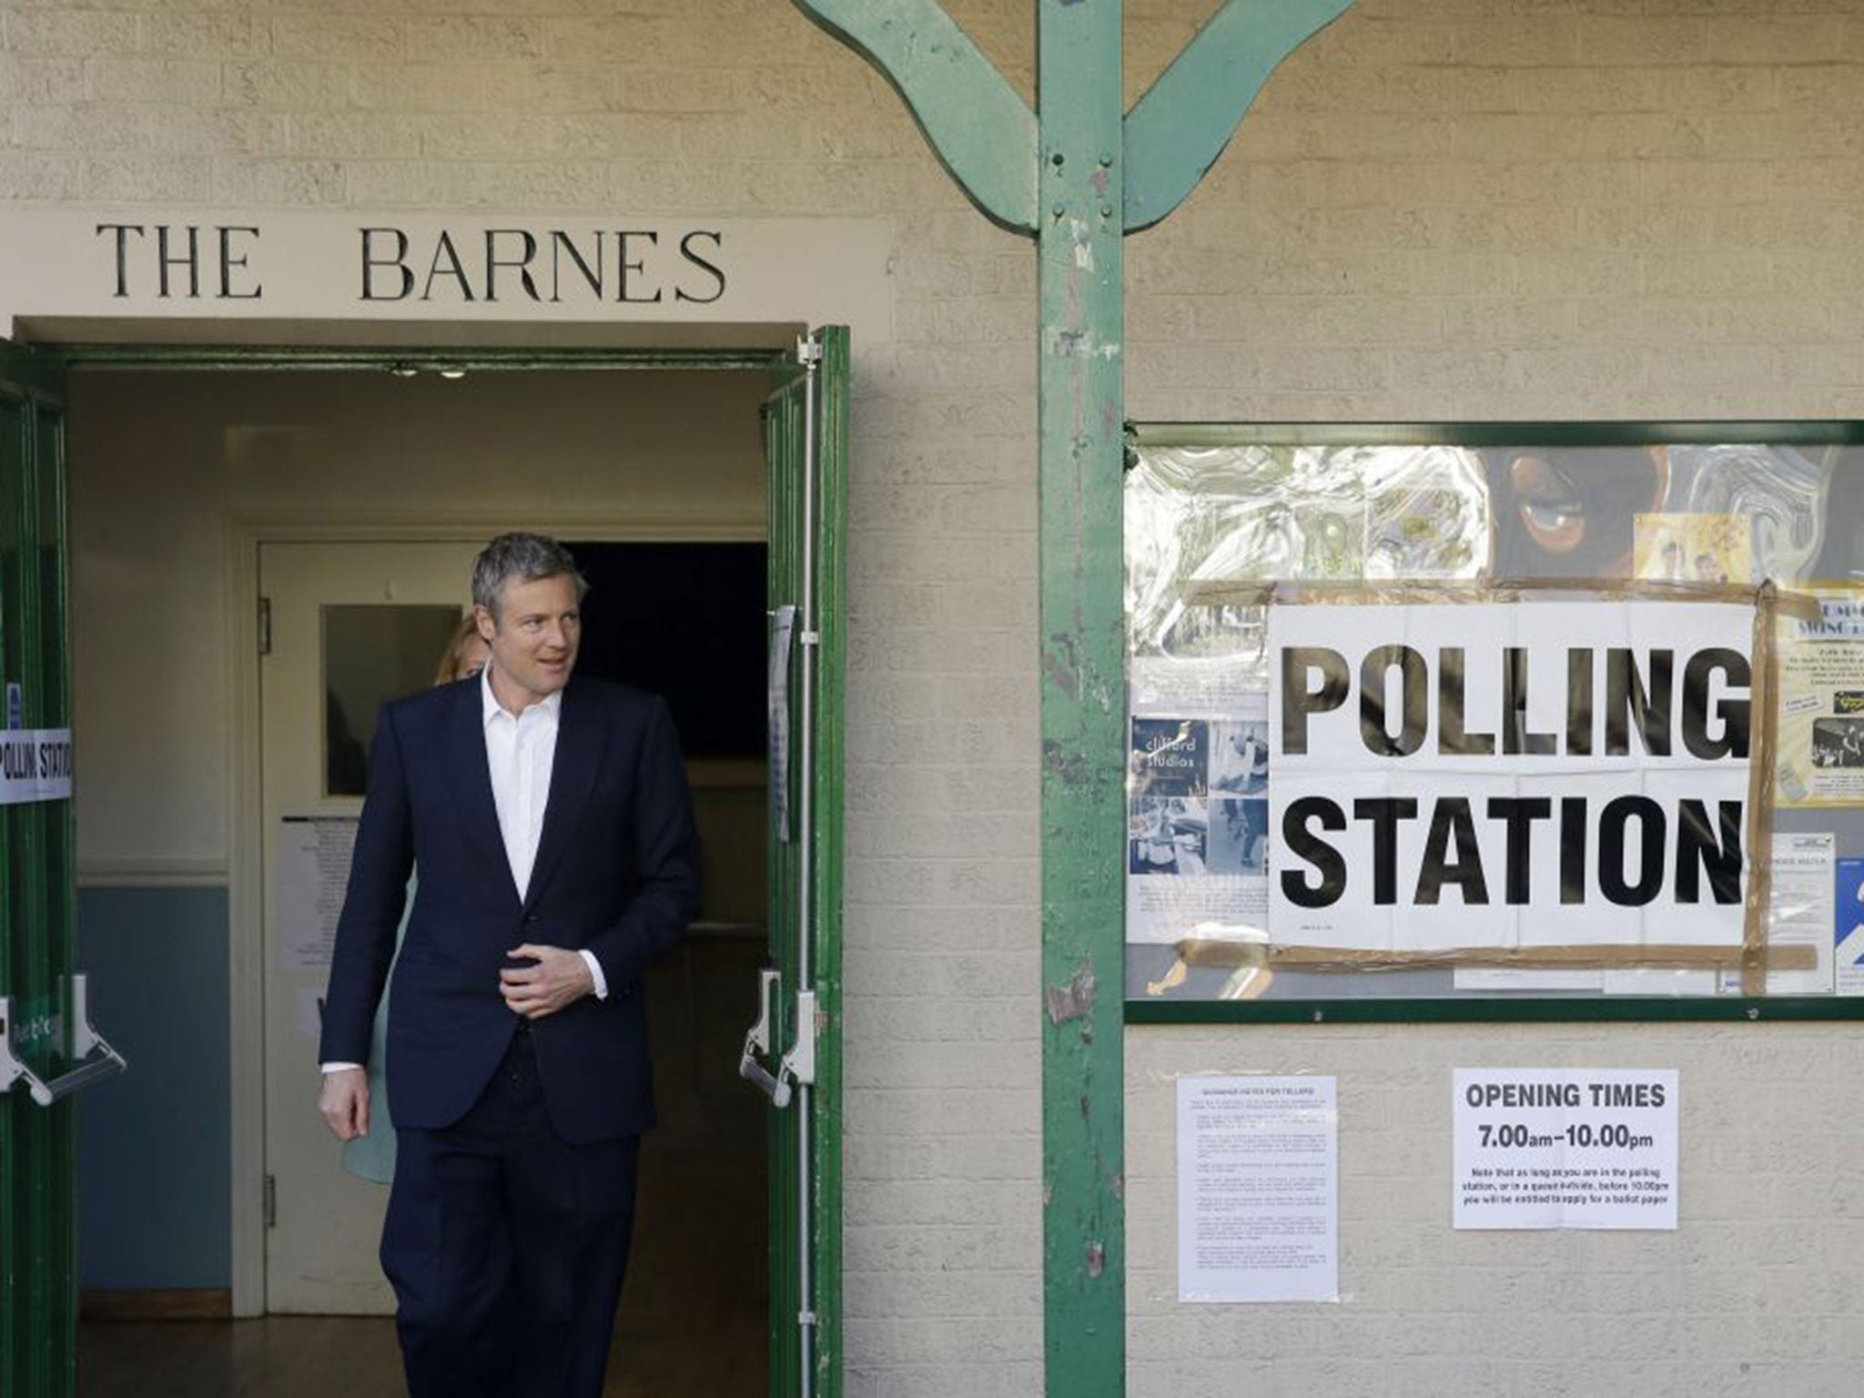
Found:
[[(1857, 1392), (1857, 1057), (1817, 1025), (1137, 1035), (1128, 1394)], [(1679, 1070), (1678, 1232), (1450, 1232), (1450, 1072), (1512, 1064)], [(1178, 1305), (1182, 1072), (1338, 1076), (1338, 1305)]]

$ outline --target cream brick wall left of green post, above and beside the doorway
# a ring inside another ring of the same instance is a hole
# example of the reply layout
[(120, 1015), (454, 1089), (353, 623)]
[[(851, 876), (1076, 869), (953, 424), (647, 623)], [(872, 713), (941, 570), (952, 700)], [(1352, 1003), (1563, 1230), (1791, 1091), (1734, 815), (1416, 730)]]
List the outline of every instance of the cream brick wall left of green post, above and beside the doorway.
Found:
[[(966, 17), (1014, 50), (1016, 11)], [(772, 0), (6, 2), (0, 198), (898, 220), (856, 343), (848, 1387), (1038, 1392), (1029, 248)]]

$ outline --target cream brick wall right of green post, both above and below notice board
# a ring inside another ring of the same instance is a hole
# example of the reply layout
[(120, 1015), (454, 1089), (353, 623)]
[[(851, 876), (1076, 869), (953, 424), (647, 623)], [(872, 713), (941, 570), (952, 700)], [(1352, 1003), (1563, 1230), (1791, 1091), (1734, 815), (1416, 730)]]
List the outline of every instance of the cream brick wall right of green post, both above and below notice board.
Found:
[[(1130, 75), (1189, 30), (1133, 7)], [(1864, 6), (1361, 0), (1128, 244), (1139, 419), (1855, 418)], [(1128, 1040), (1131, 1398), (1857, 1387), (1853, 1027)], [(1450, 1070), (1681, 1072), (1676, 1234), (1454, 1234)], [(1336, 1307), (1176, 1301), (1174, 1077), (1340, 1083)]]

